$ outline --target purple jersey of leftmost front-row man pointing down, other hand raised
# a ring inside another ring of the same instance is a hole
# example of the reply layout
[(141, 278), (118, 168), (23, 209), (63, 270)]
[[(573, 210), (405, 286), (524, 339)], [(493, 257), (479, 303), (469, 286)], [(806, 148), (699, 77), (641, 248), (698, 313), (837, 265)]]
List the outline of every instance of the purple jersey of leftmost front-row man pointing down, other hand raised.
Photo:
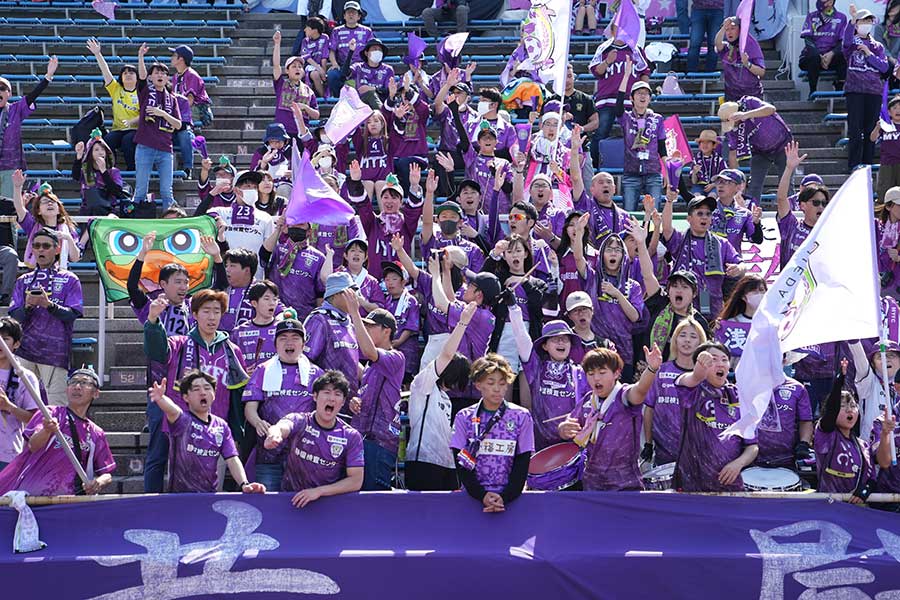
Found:
[(237, 456), (231, 428), (221, 417), (202, 421), (183, 410), (169, 423), (169, 491), (215, 493), (219, 456)]

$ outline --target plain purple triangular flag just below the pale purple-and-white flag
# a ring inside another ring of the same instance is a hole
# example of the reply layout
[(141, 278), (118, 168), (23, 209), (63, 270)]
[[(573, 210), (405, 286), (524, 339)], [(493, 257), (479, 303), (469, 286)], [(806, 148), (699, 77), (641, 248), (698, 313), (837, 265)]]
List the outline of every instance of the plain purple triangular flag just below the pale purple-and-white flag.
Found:
[(284, 211), (288, 225), (318, 223), (319, 225), (346, 225), (355, 214), (340, 194), (322, 181), (319, 173), (309, 162), (309, 153), (303, 156), (294, 149), (291, 157), (294, 187), (291, 199)]

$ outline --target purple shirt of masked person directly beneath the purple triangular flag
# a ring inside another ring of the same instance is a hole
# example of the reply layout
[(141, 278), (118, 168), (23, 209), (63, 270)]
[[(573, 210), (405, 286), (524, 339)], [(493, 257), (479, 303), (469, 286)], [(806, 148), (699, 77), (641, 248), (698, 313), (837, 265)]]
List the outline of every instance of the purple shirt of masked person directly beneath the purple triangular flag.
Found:
[[(319, 273), (325, 255), (304, 242), (303, 248), (282, 235), (269, 261), (269, 279), (278, 286), (281, 299), (297, 311), (302, 321), (316, 307), (316, 299), (325, 292)], [(288, 262), (293, 256), (293, 264)], [(285, 274), (285, 271), (287, 273)]]

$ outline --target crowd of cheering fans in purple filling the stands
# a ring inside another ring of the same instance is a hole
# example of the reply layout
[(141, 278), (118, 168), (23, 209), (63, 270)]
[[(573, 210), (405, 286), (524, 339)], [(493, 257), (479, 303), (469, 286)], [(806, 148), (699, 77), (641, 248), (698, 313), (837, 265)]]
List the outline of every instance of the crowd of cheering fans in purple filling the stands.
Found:
[[(595, 6), (577, 3), (578, 22), (596, 26)], [(887, 10), (886, 44), (868, 11), (851, 7), (848, 18), (826, 0), (807, 17), (801, 62), (813, 90), (822, 70), (837, 72), (851, 168), (873, 162), (879, 137), (883, 157), (897, 154), (897, 138), (875, 125), (896, 63), (885, 46), (896, 47), (897, 6)], [(274, 32), (272, 123), (243, 171), (227, 157), (194, 167), (192, 128), (214, 117), (189, 47), (172, 48), (169, 65), (148, 66), (144, 45), (138, 64), (114, 76), (101, 44), (88, 42), (113, 100), (113, 126), (75, 149), (81, 214), (127, 216), (124, 206), (146, 204), (157, 171), (163, 216), (185, 217), (172, 194), (178, 154), (197, 174), (195, 214), (217, 223), (217, 236), (200, 240), (214, 264), (212, 289), (188, 296), (187, 269), (171, 264), (149, 291), (142, 269), (155, 233), (140, 240), (128, 278), (151, 382), (147, 492), (212, 492), (227, 467), (226, 489), (291, 491), (304, 506), (397, 486), (400, 460), (408, 489), (463, 487), (486, 512), (499, 512), (522, 492), (533, 453), (569, 441), (584, 449), (578, 486), (586, 490), (642, 489), (642, 464), (670, 463), (678, 489), (741, 490), (748, 467), (797, 470), (815, 458), (820, 490), (851, 493), (854, 502), (875, 490), (900, 492), (888, 443), (900, 414), (892, 387), (872, 439), (854, 433), (857, 402), (881, 389), (881, 355), (870, 341), (810, 350), (773, 390), (758, 437), (719, 438), (740, 417), (730, 379), (739, 357), (716, 333), (723, 321), (749, 322), (767, 289), (740, 252), (742, 242), (763, 239), (765, 177), (773, 167), (781, 174), (782, 266), (830, 199), (814, 174), (792, 195), (806, 155), (763, 99), (759, 45), (750, 37), (739, 51), (746, 24), (723, 20), (721, 1), (695, 3), (688, 59), (698, 64), (705, 34), (706, 69), (719, 66), (725, 84), (721, 133), (700, 134), (683, 176), (664, 166), (652, 64), (622, 40), (598, 47), (593, 97), (575, 89), (570, 65), (564, 97), (542, 88), (529, 104), (496, 87), (473, 89), (477, 65), (461, 65), (443, 43), (435, 73), (410, 61), (397, 77), (384, 57), (402, 50), (381, 42), (364, 17), (354, 1), (336, 27), (310, 16), (286, 59)], [(517, 56), (510, 73), (540, 85)], [(84, 309), (79, 280), (59, 259), (77, 260), (85, 238), (49, 186), (23, 189), (22, 119), (56, 67), (52, 59), (45, 79), (14, 103), (0, 79), (0, 193), (26, 233), (29, 265), (16, 280), (3, 269), (9, 316), (0, 336), (27, 377), (37, 376), (52, 416), (35, 414), (35, 399), (0, 355), (0, 466), (9, 463), (0, 492), (95, 493), (115, 468), (103, 432), (87, 419), (100, 377), (68, 374), (73, 322)], [(318, 102), (344, 85), (374, 112), (347, 139), (329, 140), (314, 126)], [(900, 123), (900, 102), (890, 111)], [(440, 129), (434, 153), (429, 123)], [(623, 136), (624, 210), (616, 179), (594, 167), (614, 124)], [(355, 209), (346, 225), (285, 220), (297, 152), (308, 152)], [(133, 192), (117, 162), (136, 171)], [(750, 166), (749, 181), (741, 164)], [(896, 321), (900, 170), (887, 167), (873, 218), (884, 311)], [(673, 219), (680, 202), (684, 230)], [(629, 214), (639, 209), (642, 218)], [(898, 367), (900, 347), (891, 343), (891, 381)], [(54, 434), (74, 446), (87, 483), (49, 443)]]

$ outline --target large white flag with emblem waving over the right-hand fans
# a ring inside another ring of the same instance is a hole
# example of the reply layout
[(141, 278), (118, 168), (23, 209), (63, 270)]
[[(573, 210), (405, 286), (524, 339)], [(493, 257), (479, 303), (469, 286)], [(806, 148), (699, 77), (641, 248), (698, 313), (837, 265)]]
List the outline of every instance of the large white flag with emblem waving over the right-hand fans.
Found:
[(865, 167), (837, 191), (763, 297), (736, 372), (741, 418), (723, 436), (755, 435), (772, 390), (784, 381), (783, 352), (878, 336), (872, 214), (872, 173)]

